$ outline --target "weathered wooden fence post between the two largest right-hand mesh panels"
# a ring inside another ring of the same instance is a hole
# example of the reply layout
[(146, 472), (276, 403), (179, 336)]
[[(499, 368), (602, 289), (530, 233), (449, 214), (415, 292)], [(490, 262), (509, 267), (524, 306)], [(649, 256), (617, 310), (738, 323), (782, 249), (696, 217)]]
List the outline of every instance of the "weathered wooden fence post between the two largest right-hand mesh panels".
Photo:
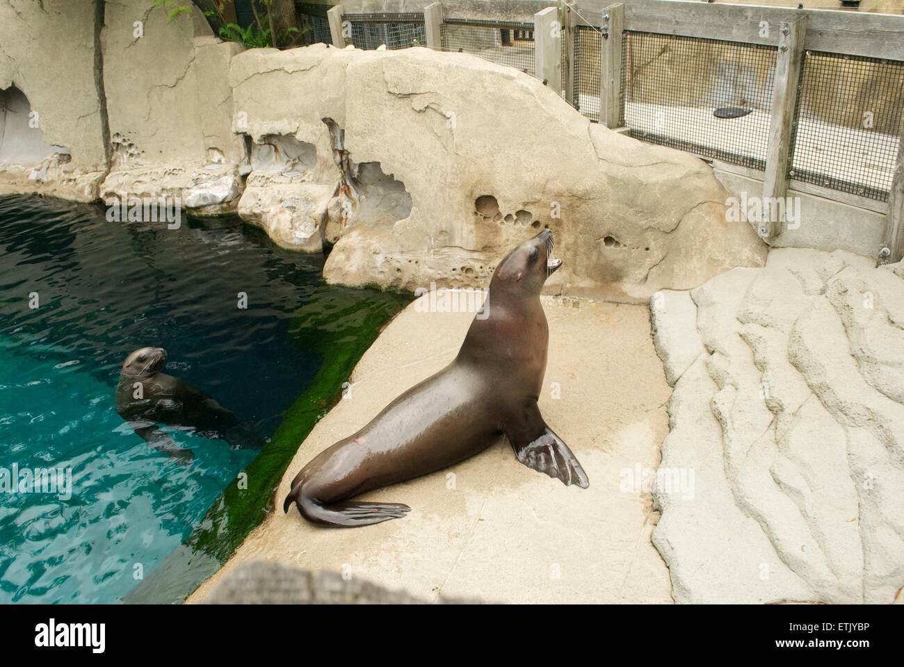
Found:
[[(763, 206), (766, 220), (758, 223), (757, 233), (770, 240), (781, 233), (784, 206), (772, 206), (788, 190), (788, 158), (794, 134), (797, 84), (804, 57), (806, 16), (781, 23), (776, 56), (776, 76), (772, 86), (772, 117), (766, 149), (766, 174), (763, 176)], [(779, 211), (782, 211), (779, 214)]]

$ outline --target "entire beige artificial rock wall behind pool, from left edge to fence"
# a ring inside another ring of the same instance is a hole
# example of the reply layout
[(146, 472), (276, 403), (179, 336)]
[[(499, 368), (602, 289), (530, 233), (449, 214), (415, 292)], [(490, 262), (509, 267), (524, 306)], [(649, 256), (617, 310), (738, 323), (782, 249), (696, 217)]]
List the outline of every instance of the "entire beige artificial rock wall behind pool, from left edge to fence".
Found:
[[(569, 294), (642, 302), (765, 261), (709, 166), (591, 124), (517, 70), (422, 48), (242, 52), (151, 0), (0, 12), (0, 76), (23, 93), (0, 145), (24, 155), (0, 159), (14, 192), (238, 211), (284, 247), (332, 247), (325, 277), (352, 286), (485, 285), (546, 226), (565, 260), (548, 287)], [(23, 135), (27, 104), (40, 136)]]

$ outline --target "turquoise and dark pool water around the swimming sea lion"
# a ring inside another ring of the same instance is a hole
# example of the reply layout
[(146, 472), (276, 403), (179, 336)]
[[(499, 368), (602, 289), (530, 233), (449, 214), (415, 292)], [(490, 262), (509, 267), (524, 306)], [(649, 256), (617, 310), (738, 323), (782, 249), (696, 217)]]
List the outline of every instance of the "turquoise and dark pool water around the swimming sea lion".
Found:
[[(402, 304), (325, 286), (323, 261), (233, 219), (169, 230), (0, 197), (0, 476), (71, 472), (69, 498), (0, 493), (0, 602), (114, 602), (182, 543), (257, 451), (183, 430), (169, 435), (193, 450), (191, 465), (151, 449), (115, 411), (119, 367), (137, 347), (165, 347), (165, 372), (272, 436), (320, 351)], [(334, 304), (347, 315), (325, 326)]]

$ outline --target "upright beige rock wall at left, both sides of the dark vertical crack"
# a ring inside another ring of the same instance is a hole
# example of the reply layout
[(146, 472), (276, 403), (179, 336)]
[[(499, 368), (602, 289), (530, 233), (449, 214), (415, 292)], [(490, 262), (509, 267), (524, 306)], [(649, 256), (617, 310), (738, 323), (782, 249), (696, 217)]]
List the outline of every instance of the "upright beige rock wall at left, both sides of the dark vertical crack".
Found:
[(178, 196), (232, 211), (245, 162), (231, 57), (201, 12), (152, 0), (0, 5), (0, 192)]

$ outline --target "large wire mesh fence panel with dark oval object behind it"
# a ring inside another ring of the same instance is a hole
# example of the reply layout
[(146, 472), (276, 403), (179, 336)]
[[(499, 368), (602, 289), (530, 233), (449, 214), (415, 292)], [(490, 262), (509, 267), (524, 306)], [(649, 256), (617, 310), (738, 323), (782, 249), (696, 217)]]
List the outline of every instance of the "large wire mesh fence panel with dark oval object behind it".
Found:
[(776, 47), (626, 31), (622, 49), (631, 136), (766, 168)]

